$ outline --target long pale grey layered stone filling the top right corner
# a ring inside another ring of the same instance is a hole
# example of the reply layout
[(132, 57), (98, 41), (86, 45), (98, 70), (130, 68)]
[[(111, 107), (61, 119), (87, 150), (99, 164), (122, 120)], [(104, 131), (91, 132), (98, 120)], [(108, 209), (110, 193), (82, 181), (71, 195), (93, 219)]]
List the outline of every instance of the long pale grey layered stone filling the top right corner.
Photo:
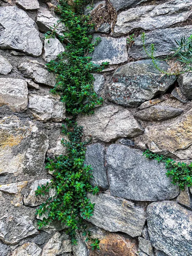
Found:
[(114, 35), (128, 35), (133, 29), (154, 30), (186, 21), (192, 15), (191, 0), (172, 0), (160, 5), (139, 6), (117, 16)]

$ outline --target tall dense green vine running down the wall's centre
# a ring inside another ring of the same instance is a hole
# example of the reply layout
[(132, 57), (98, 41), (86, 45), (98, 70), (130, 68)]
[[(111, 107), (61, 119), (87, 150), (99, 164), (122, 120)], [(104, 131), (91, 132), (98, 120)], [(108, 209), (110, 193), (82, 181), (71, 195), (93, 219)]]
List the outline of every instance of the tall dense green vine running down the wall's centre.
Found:
[[(57, 75), (57, 83), (51, 90), (61, 96), (61, 101), (66, 104), (66, 111), (73, 116), (67, 119), (67, 125), (63, 125), (63, 133), (69, 140), (61, 140), (67, 147), (68, 154), (48, 159), (46, 168), (52, 173), (53, 179), (46, 186), (39, 186), (36, 195), (45, 195), (50, 189), (55, 190), (55, 195), (37, 209), (36, 214), (43, 219), (38, 221), (39, 228), (57, 220), (67, 227), (66, 233), (70, 235), (72, 243), (76, 243), (76, 231), (83, 230), (87, 240), (92, 241), (92, 248), (99, 249), (99, 240), (92, 239), (90, 231), (84, 224), (84, 219), (93, 215), (94, 204), (87, 198), (87, 192), (93, 195), (99, 192), (99, 188), (92, 187), (89, 183), (91, 166), (85, 166), (86, 145), (90, 141), (82, 141), (83, 127), (78, 126), (75, 119), (77, 114), (93, 113), (96, 105), (102, 104), (93, 89), (93, 75), (91, 72), (101, 71), (108, 63), (101, 66), (93, 64), (88, 53), (94, 50), (99, 42), (91, 43), (92, 36), (89, 29), (93, 27), (90, 16), (82, 14), (84, 0), (74, 1), (75, 6), (70, 6), (67, 0), (60, 0), (56, 12), (61, 16), (59, 23), (67, 27), (67, 32), (59, 36), (60, 41), (69, 42), (66, 51), (58, 55), (57, 60), (47, 64), (49, 71)], [(47, 32), (46, 38), (54, 37), (56, 28)]]

